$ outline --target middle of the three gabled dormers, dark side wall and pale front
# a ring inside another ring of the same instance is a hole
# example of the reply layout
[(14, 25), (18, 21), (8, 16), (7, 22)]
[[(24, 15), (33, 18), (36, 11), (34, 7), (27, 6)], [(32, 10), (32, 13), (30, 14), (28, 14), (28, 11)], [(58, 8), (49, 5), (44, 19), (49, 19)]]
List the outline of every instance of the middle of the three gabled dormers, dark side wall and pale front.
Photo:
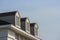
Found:
[(21, 29), (30, 33), (30, 21), (27, 17), (21, 18)]

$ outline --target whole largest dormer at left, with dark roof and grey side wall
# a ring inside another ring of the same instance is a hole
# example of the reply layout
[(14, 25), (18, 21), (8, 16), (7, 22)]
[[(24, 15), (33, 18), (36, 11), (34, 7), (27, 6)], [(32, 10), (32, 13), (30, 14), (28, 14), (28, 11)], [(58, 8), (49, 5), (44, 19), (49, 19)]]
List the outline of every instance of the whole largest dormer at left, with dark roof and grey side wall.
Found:
[(20, 14), (18, 11), (0, 13), (0, 20), (6, 21), (20, 28)]

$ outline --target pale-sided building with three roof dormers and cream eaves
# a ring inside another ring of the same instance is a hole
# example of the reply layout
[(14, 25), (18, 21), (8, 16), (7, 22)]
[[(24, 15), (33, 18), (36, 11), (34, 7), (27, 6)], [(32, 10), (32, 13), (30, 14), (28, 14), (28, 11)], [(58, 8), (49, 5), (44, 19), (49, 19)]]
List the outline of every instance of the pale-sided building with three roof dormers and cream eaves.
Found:
[(38, 25), (18, 11), (0, 13), (0, 40), (38, 40)]

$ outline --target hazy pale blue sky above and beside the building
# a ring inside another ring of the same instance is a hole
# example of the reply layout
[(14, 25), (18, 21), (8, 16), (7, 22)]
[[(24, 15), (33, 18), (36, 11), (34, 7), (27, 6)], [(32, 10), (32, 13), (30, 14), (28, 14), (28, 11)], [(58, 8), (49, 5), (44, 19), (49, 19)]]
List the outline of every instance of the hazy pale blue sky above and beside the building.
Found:
[(60, 0), (0, 0), (0, 12), (15, 10), (38, 23), (42, 40), (60, 40)]

